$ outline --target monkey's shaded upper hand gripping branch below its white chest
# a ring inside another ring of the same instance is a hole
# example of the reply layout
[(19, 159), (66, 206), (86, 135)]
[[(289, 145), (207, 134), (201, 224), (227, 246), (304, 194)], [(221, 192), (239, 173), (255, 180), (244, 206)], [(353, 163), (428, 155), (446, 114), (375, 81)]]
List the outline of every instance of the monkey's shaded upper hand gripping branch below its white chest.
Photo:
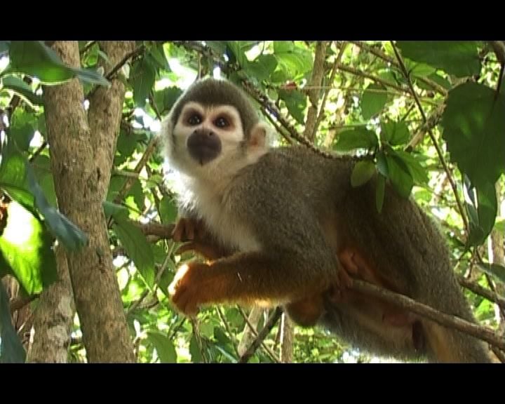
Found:
[(194, 251), (211, 261), (231, 254), (231, 251), (215, 241), (201, 220), (181, 218), (175, 225), (173, 240), (189, 241), (177, 249), (177, 254)]

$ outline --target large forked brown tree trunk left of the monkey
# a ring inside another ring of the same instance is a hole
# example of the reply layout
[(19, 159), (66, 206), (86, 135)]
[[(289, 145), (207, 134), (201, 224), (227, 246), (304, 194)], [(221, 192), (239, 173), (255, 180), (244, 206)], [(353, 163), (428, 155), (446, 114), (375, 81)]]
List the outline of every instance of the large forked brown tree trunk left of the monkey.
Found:
[[(132, 41), (101, 43), (109, 58), (105, 72), (134, 46)], [(56, 41), (53, 48), (67, 65), (79, 67), (76, 41)], [(43, 95), (58, 206), (89, 238), (86, 247), (67, 253), (89, 362), (135, 361), (102, 208), (124, 93), (123, 83), (117, 79), (110, 88), (98, 88), (90, 100), (89, 124), (77, 79), (45, 87)]]

